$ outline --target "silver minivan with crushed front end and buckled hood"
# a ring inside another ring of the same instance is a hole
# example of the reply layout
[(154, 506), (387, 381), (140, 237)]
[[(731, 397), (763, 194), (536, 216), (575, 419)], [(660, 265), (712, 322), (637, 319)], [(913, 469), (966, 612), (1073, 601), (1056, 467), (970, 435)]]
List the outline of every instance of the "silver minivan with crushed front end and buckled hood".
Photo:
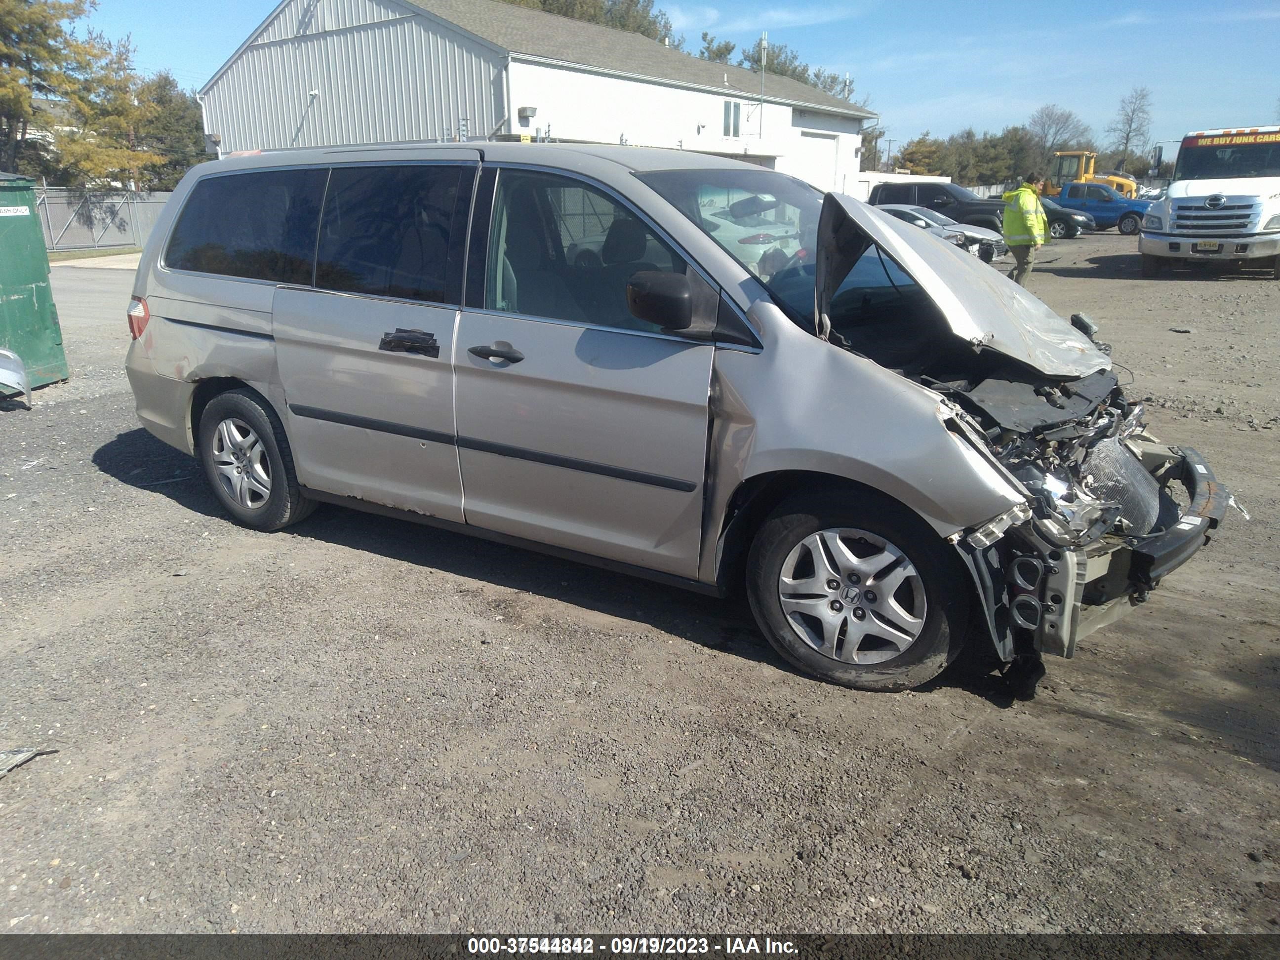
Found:
[[(767, 279), (704, 212), (744, 200), (801, 234)], [(590, 269), (567, 256), (588, 207), (608, 224)], [(744, 584), (782, 657), (861, 689), (923, 684), (966, 644), (1070, 657), (1228, 502), (1147, 434), (1084, 317), (850, 197), (701, 154), (200, 164), (128, 324), (138, 419), (244, 526), (328, 502)]]

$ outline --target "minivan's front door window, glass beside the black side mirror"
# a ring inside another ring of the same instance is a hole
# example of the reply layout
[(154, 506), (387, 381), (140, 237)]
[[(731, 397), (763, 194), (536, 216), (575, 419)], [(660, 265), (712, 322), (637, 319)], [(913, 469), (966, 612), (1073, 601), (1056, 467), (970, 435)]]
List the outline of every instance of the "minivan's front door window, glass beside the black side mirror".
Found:
[(678, 253), (602, 191), (554, 174), (499, 173), (489, 310), (655, 332), (631, 315), (627, 282), (640, 270), (685, 269)]

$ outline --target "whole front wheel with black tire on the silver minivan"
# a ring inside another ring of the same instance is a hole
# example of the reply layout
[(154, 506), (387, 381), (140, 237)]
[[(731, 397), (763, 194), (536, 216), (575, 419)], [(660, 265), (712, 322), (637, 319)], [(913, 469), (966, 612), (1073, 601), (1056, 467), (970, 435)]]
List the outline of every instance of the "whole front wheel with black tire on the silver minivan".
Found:
[(748, 599), (788, 663), (859, 690), (925, 684), (964, 648), (959, 558), (918, 516), (870, 490), (783, 500), (751, 544)]

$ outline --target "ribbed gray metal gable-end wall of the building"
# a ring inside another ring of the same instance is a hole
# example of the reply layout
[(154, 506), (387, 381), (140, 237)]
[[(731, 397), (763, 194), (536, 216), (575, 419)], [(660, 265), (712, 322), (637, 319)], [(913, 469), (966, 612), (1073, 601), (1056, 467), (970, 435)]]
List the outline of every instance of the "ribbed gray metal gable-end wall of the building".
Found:
[[(307, 6), (289, 4), (206, 90), (224, 151), (444, 140), (462, 118), (472, 134), (502, 119), (504, 55), (393, 3)], [(342, 26), (296, 36), (303, 17)]]

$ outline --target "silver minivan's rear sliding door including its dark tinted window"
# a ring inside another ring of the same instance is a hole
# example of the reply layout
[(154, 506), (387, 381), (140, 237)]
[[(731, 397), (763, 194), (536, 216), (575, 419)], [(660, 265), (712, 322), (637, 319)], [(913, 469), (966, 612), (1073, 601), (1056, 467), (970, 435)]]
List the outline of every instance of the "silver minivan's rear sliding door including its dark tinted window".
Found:
[(315, 284), (271, 310), (305, 486), (462, 521), (452, 356), (476, 169), (333, 169)]

